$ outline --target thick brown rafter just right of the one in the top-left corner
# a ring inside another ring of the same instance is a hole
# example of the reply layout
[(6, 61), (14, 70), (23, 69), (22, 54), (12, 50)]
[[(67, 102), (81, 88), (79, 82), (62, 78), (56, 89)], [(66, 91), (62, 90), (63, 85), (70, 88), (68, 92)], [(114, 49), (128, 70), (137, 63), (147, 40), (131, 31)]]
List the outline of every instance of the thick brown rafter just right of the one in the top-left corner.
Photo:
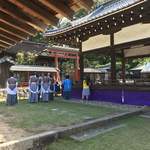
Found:
[(53, 16), (49, 11), (45, 11), (44, 8), (41, 9), (37, 4), (33, 3), (33, 1), (25, 1), (25, 0), (8, 0), (12, 2), (17, 7), (21, 8), (25, 13), (37, 17), (38, 19), (43, 20), (47, 25), (57, 25), (59, 21), (57, 17)]

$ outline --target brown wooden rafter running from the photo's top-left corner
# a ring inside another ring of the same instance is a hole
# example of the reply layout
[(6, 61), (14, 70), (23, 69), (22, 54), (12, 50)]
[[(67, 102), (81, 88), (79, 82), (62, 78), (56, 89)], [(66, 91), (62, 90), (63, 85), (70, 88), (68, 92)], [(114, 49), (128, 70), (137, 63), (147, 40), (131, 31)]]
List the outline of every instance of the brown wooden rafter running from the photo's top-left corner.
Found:
[(27, 23), (38, 31), (43, 31), (47, 27), (42, 21), (26, 15), (21, 9), (6, 0), (0, 1), (0, 10), (19, 21)]

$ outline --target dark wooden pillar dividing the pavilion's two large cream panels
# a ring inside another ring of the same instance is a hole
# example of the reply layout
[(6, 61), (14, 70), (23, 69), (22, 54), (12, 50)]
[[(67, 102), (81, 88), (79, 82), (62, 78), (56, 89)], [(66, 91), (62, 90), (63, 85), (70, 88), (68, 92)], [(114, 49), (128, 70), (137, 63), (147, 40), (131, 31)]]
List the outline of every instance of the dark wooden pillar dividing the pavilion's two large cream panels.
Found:
[(114, 50), (114, 33), (110, 34), (111, 46), (111, 82), (116, 82), (116, 54)]

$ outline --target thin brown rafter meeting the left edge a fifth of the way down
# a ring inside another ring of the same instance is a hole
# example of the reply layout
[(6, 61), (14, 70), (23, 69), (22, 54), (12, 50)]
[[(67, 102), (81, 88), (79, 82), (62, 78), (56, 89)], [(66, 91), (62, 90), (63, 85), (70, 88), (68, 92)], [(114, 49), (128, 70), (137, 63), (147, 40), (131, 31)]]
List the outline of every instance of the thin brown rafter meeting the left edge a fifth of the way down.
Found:
[(5, 35), (6, 37), (10, 37), (10, 38), (12, 37), (12, 39), (16, 39), (18, 41), (26, 39), (26, 38), (24, 38), (24, 37), (22, 37), (20, 35), (17, 35), (17, 34), (15, 34), (13, 32), (10, 32), (10, 31), (2, 29), (2, 28), (0, 28), (0, 34)]

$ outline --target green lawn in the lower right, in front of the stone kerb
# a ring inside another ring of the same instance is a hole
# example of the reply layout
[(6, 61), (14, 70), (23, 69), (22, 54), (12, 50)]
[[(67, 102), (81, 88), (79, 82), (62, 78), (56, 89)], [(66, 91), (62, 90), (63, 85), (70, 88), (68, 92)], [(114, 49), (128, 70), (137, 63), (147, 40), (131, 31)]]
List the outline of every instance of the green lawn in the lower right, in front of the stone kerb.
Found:
[(69, 138), (49, 145), (49, 150), (150, 150), (150, 119), (132, 117), (122, 120), (127, 126), (84, 142)]

